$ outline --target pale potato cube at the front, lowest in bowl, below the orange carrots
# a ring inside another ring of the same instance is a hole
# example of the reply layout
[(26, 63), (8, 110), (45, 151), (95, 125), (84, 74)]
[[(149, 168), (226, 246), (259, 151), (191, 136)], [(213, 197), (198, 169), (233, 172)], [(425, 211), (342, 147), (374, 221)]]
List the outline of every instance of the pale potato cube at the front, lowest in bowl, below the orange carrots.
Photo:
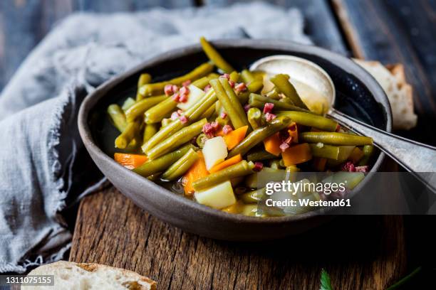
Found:
[(219, 183), (217, 186), (212, 188), (197, 191), (194, 193), (194, 197), (198, 203), (207, 205), (211, 208), (216, 208), (217, 210), (236, 203), (236, 198), (234, 197), (230, 181)]

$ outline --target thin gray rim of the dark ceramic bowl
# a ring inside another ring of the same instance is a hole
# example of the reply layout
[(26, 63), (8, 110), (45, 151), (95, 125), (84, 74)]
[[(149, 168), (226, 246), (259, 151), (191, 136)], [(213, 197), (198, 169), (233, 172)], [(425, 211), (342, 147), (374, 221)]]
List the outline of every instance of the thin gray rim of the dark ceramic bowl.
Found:
[[(386, 127), (385, 131), (390, 132), (392, 130), (392, 112), (390, 109), (390, 103), (388, 101), (388, 97), (385, 95), (383, 88), (380, 87), (378, 82), (374, 79), (372, 75), (366, 72), (360, 65), (355, 63), (351, 58), (347, 58), (346, 56), (340, 55), (338, 53), (334, 53), (330, 50), (326, 50), (325, 48), (320, 48), (316, 45), (304, 45), (300, 43), (294, 43), (291, 41), (279, 41), (279, 40), (269, 40), (269, 39), (217, 39), (214, 41), (210, 41), (215, 47), (219, 48), (249, 48), (249, 49), (264, 49), (264, 50), (282, 50), (284, 53), (305, 53), (309, 55), (316, 55), (317, 57), (323, 58), (330, 63), (336, 64), (341, 63), (341, 69), (345, 70), (347, 73), (354, 75), (357, 77), (365, 87), (368, 88), (371, 95), (375, 98), (376, 102), (382, 104), (383, 109), (385, 110), (385, 119), (386, 119)], [(135, 182), (142, 183), (150, 190), (158, 190), (160, 194), (162, 194), (163, 198), (169, 198), (172, 201), (177, 203), (182, 203), (183, 205), (192, 208), (192, 210), (196, 210), (201, 212), (204, 215), (212, 215), (214, 218), (219, 218), (221, 220), (229, 220), (232, 222), (256, 222), (261, 224), (277, 224), (284, 222), (292, 222), (296, 220), (305, 220), (311, 218), (315, 215), (319, 215), (318, 211), (311, 211), (309, 213), (304, 213), (302, 215), (293, 215), (293, 216), (283, 216), (283, 217), (251, 217), (246, 215), (235, 215), (232, 213), (225, 213), (222, 210), (216, 210), (214, 208), (209, 208), (206, 205), (201, 205), (196, 203), (194, 200), (189, 200), (182, 195), (177, 195), (162, 186), (159, 186), (157, 183), (149, 181), (147, 178), (140, 176), (139, 174), (130, 171), (128, 168), (125, 168), (115, 162), (108, 154), (105, 154), (103, 150), (95, 144), (93, 136), (91, 134), (90, 127), (88, 126), (88, 114), (95, 107), (95, 104), (100, 101), (108, 90), (111, 90), (113, 87), (120, 85), (124, 80), (132, 75), (138, 74), (145, 70), (147, 67), (158, 65), (159, 63), (180, 58), (184, 55), (190, 53), (198, 53), (201, 51), (201, 45), (199, 43), (187, 45), (181, 48), (175, 48), (173, 50), (169, 50), (165, 53), (160, 53), (150, 58), (149, 60), (145, 60), (142, 63), (135, 65), (135, 67), (117, 75), (109, 80), (103, 82), (103, 84), (99, 85), (93, 92), (90, 92), (85, 99), (83, 100), (81, 107), (78, 112), (78, 129), (81, 135), (81, 139), (83, 144), (85, 145), (88, 151), (92, 151), (93, 154), (100, 156), (104, 159), (104, 161), (112, 164), (113, 166), (119, 166), (118, 169), (121, 172), (127, 174), (130, 178), (133, 178)], [(378, 158), (376, 159), (373, 167), (370, 170), (370, 173), (378, 171), (380, 168), (383, 159), (385, 158), (385, 153), (380, 151)], [(360, 183), (358, 187), (356, 187), (353, 192), (357, 192), (359, 188), (363, 186), (363, 183)], [(124, 193), (123, 193), (124, 194)], [(128, 196), (129, 197), (129, 196)], [(130, 197), (129, 197), (130, 198)]]

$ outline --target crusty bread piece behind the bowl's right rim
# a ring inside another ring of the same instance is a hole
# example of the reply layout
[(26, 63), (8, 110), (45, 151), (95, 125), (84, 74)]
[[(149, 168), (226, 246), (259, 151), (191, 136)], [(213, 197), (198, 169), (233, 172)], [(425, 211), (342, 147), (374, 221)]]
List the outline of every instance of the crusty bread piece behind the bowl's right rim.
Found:
[(393, 114), (393, 129), (409, 130), (416, 126), (412, 86), (405, 79), (401, 64), (383, 66), (378, 61), (355, 60), (378, 81), (388, 96)]

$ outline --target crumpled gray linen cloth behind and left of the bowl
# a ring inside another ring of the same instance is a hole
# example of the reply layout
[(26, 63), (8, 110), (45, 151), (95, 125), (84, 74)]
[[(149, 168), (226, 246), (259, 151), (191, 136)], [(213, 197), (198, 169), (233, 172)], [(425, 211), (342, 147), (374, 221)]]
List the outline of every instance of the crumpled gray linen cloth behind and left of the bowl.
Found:
[(70, 246), (59, 212), (93, 189), (76, 126), (83, 97), (113, 75), (197, 43), (199, 36), (310, 43), (298, 10), (256, 3), (75, 14), (28, 55), (0, 96), (0, 272), (56, 261)]

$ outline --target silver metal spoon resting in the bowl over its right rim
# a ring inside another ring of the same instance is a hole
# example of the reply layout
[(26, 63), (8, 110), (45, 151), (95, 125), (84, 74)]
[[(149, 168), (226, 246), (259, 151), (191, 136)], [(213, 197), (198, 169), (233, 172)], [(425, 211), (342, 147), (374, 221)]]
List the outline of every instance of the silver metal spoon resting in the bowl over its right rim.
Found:
[(257, 60), (251, 65), (250, 70), (262, 70), (266, 75), (285, 73), (291, 76), (290, 81), (296, 86), (297, 92), (298, 84), (301, 82), (320, 92), (329, 104), (326, 113), (328, 117), (358, 134), (372, 137), (376, 147), (406, 170), (415, 173), (417, 178), (436, 192), (436, 147), (390, 134), (338, 112), (333, 108), (336, 98), (335, 86), (328, 73), (315, 63), (291, 55), (272, 55)]

